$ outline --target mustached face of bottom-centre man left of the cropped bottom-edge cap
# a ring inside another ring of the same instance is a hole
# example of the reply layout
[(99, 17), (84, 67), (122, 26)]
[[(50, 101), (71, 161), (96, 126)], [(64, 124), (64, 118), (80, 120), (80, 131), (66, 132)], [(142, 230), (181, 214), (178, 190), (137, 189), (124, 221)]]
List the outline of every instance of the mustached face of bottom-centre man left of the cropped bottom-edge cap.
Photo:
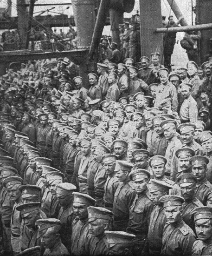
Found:
[(88, 220), (88, 232), (91, 236), (101, 236), (104, 234), (104, 230), (107, 229), (108, 223), (106, 220), (96, 219), (95, 221)]

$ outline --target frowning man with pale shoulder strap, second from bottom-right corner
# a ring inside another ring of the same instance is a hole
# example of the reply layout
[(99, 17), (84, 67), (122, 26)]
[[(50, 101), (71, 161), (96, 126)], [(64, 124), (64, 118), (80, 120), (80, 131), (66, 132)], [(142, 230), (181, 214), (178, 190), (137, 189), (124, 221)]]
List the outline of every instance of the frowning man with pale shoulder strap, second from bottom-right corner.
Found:
[(184, 199), (177, 195), (164, 195), (160, 198), (160, 202), (164, 204), (167, 218), (163, 229), (161, 256), (191, 255), (195, 235), (182, 219)]

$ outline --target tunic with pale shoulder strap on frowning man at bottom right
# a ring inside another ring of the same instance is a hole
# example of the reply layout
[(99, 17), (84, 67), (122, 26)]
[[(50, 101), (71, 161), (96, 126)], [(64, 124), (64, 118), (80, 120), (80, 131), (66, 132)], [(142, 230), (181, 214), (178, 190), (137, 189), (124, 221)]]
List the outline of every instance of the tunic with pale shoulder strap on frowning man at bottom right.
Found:
[(166, 223), (163, 230), (161, 256), (190, 256), (195, 241), (193, 230), (182, 220)]

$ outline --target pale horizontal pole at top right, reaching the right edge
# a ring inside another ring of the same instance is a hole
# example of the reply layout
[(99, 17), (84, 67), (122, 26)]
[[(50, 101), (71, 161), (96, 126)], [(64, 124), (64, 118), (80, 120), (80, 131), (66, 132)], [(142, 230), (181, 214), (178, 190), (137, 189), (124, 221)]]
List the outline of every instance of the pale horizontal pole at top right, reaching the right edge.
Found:
[(155, 30), (156, 33), (166, 33), (166, 32), (184, 32), (184, 31), (196, 31), (196, 30), (209, 30), (212, 29), (212, 23), (200, 24), (194, 26), (185, 27), (162, 27)]

